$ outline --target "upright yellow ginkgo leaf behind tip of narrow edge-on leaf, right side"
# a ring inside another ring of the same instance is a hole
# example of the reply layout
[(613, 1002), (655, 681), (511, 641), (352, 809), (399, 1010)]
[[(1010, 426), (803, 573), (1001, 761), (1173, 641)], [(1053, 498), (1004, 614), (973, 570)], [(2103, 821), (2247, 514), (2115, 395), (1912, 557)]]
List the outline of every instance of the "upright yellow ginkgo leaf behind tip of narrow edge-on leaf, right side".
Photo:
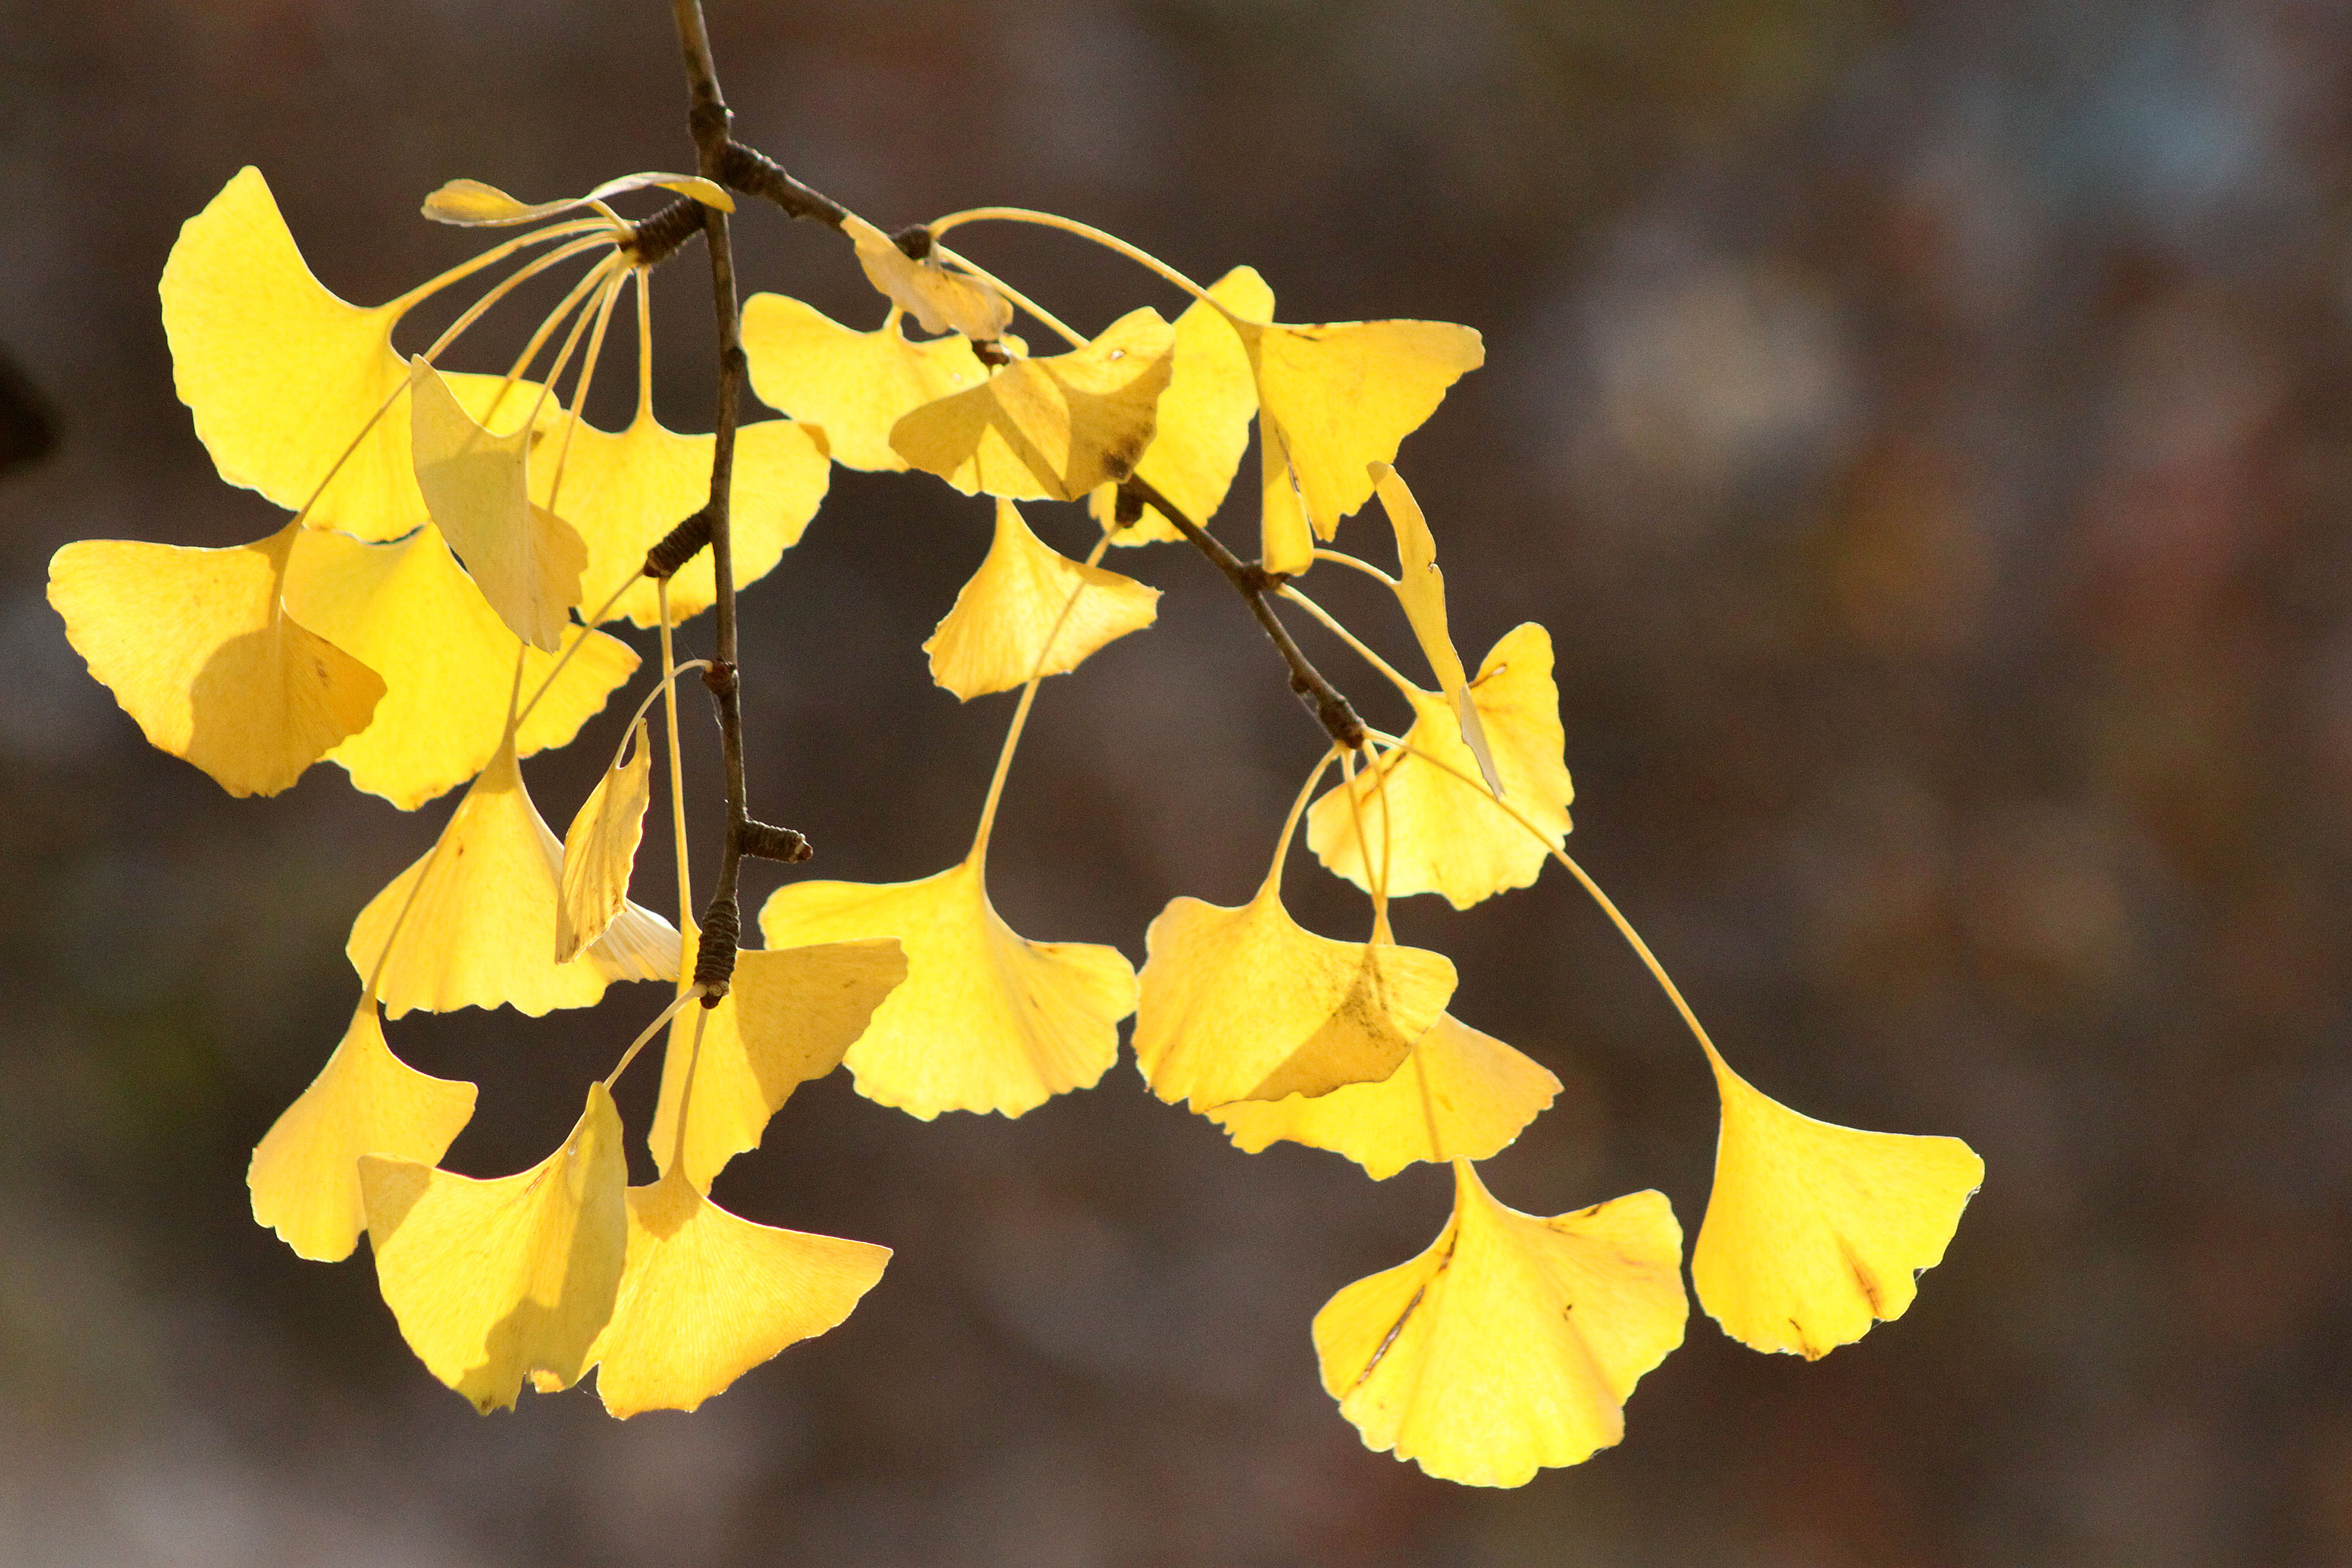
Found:
[[(1543, 872), (1545, 844), (1557, 849), (1569, 835), (1576, 795), (1562, 762), (1566, 736), (1552, 684), (1552, 635), (1534, 621), (1505, 632), (1468, 693), (1484, 719), (1503, 802), (1545, 837), (1515, 823), (1477, 783), (1477, 759), (1463, 745), (1446, 701), (1414, 691), (1414, 726), (1404, 731), (1414, 750), (1383, 752), (1374, 766), (1357, 771), (1352, 785), (1324, 792), (1308, 809), (1308, 849), (1334, 875), (1371, 886), (1357, 846), (1359, 818), (1371, 863), (1381, 865), (1388, 856), (1390, 898), (1444, 893), (1456, 910), (1468, 910)], [(1350, 788), (1355, 811), (1348, 809)]]

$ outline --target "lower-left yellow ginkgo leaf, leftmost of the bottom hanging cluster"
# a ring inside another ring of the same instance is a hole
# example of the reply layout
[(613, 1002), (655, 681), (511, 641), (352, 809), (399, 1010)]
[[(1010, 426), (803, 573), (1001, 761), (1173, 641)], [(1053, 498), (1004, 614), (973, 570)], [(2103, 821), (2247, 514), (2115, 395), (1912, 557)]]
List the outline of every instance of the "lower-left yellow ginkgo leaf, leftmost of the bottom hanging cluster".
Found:
[(393, 1056), (376, 999), (362, 997), (343, 1044), (254, 1147), (245, 1171), (254, 1222), (299, 1258), (350, 1258), (367, 1229), (360, 1154), (433, 1166), (470, 1119), (473, 1084), (435, 1079)]

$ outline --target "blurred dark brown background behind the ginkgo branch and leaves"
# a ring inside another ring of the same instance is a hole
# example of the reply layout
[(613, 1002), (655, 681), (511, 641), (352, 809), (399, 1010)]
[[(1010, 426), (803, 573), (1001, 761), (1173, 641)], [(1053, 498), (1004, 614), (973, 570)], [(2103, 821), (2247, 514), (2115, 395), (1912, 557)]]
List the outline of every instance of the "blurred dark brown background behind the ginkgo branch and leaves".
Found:
[[(1465, 1490), (1367, 1453), (1308, 1342), (1437, 1234), (1442, 1173), (1237, 1154), (1127, 1063), (929, 1126), (837, 1074), (717, 1197), (898, 1248), (847, 1326), (691, 1418), (619, 1425), (586, 1389), (477, 1418), (365, 1258), (299, 1262), (242, 1185), (348, 1018), (350, 914), (447, 802), (402, 816), (334, 766), (228, 799), (87, 679), (42, 578), (71, 538), (278, 527), (214, 477), (155, 306), (240, 165), (332, 289), (388, 299), (470, 252), (416, 219), (445, 179), (536, 200), (691, 167), (668, 14), (5, 0), (0, 1561), (2352, 1561), (2352, 9), (717, 0), (710, 26), (739, 134), (884, 228), (1049, 207), (1200, 277), (1249, 261), (1284, 320), (1482, 329), (1402, 461), (1465, 656), (1552, 630), (1573, 849), (1748, 1077), (1964, 1135), (1985, 1192), (1903, 1321), (1806, 1366), (1693, 1316), (1621, 1448)], [(1183, 306), (1065, 237), (960, 244), (1082, 327)], [(739, 266), (880, 315), (774, 212)], [(708, 428), (706, 280), (689, 254), (656, 287), (677, 428)], [(626, 407), (626, 374), (600, 393)], [(1084, 548), (1073, 508), (1033, 522)], [(1221, 531), (1254, 548), (1247, 491)], [(1341, 543), (1388, 552), (1376, 517)], [(917, 644), (985, 545), (983, 503), (837, 473), (748, 595), (753, 799), (811, 875), (969, 842), (1011, 698), (960, 708)], [(1167, 898), (1249, 891), (1319, 731), (1197, 557), (1112, 564), (1167, 590), (1160, 628), (1047, 686), (990, 870), (1018, 931), (1141, 959)], [(557, 827), (616, 724), (527, 769)], [(708, 731), (694, 769), (715, 790)], [(1303, 851), (1291, 907), (1362, 922)], [(1494, 1192), (1653, 1185), (1696, 1234), (1712, 1088), (1595, 910), (1552, 872), (1397, 924), (1566, 1084)], [(390, 1041), (482, 1084), (452, 1164), (489, 1175), (553, 1147), (654, 1006)]]

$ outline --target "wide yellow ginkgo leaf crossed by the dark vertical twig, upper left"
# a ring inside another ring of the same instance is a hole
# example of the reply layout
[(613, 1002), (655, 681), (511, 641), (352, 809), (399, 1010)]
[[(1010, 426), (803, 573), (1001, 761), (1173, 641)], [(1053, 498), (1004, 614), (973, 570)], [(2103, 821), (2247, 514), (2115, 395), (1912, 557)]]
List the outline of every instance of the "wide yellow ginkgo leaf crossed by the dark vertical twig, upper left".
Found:
[[(644, 552), (710, 498), (710, 447), (717, 437), (668, 430), (647, 402), (621, 433), (581, 421), (562, 458), (562, 494), (550, 498), (562, 440), (548, 435), (532, 454), (532, 498), (588, 545), (583, 604), (593, 614), (637, 578), (609, 614), (656, 625), (661, 611), (654, 583), (644, 578)], [(736, 588), (757, 583), (800, 543), (830, 482), (833, 463), (814, 425), (762, 418), (736, 430), (727, 501)], [(715, 597), (710, 552), (703, 550), (670, 576), (670, 623), (699, 616)]]

